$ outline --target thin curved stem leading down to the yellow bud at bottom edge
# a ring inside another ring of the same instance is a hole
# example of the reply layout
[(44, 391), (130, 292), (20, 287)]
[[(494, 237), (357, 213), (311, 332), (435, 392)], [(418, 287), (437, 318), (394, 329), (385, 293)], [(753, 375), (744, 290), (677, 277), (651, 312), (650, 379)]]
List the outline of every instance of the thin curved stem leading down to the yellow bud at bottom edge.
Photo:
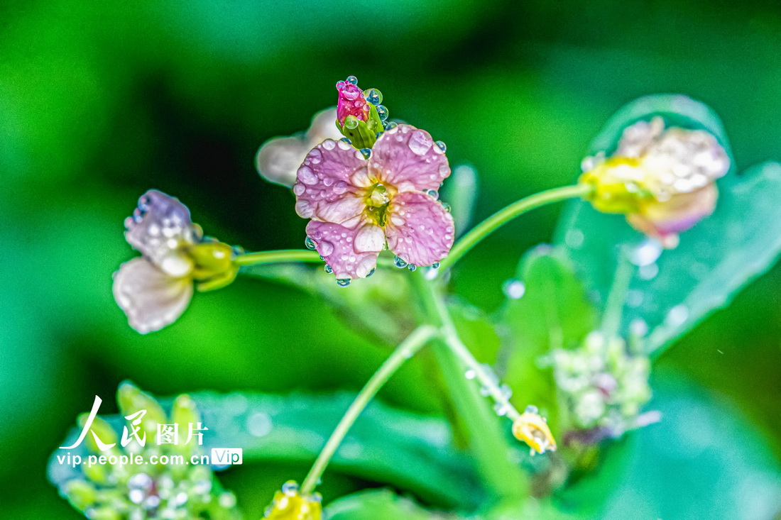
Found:
[(366, 408), (366, 404), (369, 404), (369, 401), (373, 399), (387, 380), (391, 379), (391, 376), (394, 375), (398, 368), (424, 347), (436, 334), (437, 329), (432, 326), (419, 326), (412, 331), (407, 339), (396, 347), (396, 350), (391, 354), (391, 357), (387, 358), (380, 369), (374, 373), (372, 379), (369, 379), (366, 386), (364, 386), (358, 396), (355, 397), (355, 401), (352, 401), (350, 408), (348, 408), (348, 411), (345, 412), (336, 429), (331, 433), (325, 447), (323, 447), (323, 451), (317, 456), (315, 463), (312, 465), (312, 469), (309, 470), (304, 482), (301, 484), (301, 495), (310, 495), (312, 494), (312, 491), (315, 490), (315, 486), (317, 486), (317, 483), (333, 457), (333, 454), (336, 453), (337, 448), (341, 444), (341, 441), (344, 440), (344, 436), (347, 435), (348, 430), (355, 422), (355, 419), (358, 418), (358, 415)]

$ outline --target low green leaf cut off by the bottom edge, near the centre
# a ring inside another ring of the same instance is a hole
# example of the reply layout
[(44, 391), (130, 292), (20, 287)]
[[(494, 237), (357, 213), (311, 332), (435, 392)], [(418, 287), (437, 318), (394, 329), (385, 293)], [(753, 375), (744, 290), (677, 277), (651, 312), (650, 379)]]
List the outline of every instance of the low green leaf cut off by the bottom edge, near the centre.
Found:
[(455, 514), (426, 511), (414, 501), (390, 490), (363, 491), (331, 502), (325, 509), (328, 520), (444, 520)]

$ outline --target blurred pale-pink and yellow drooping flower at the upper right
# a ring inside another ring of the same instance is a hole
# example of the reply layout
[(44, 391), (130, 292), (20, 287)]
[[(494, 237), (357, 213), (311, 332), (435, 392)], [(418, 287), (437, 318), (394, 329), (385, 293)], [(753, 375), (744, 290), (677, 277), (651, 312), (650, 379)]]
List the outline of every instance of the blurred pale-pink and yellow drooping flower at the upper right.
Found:
[(582, 168), (594, 208), (626, 214), (635, 229), (673, 248), (679, 233), (713, 212), (715, 180), (729, 170), (729, 156), (712, 134), (665, 128), (654, 117), (627, 126), (611, 157), (601, 152)]

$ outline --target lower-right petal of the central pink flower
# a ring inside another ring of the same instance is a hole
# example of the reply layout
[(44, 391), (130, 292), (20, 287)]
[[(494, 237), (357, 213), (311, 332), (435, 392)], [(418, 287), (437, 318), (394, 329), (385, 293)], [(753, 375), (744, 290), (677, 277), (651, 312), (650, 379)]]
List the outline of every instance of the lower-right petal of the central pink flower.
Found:
[(430, 195), (405, 191), (391, 199), (385, 234), (388, 248), (409, 264), (431, 265), (453, 247), (453, 217)]

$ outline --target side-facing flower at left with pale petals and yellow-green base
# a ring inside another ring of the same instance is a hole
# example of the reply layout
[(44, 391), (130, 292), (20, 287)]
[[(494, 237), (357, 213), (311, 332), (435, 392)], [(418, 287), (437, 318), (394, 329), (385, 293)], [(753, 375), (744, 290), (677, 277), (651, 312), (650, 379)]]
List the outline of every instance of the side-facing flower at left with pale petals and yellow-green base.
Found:
[(114, 274), (114, 298), (130, 326), (142, 334), (179, 318), (190, 303), (194, 282), (198, 290), (213, 290), (236, 277), (234, 248), (205, 238), (177, 198), (147, 191), (125, 228), (128, 244), (142, 256)]

